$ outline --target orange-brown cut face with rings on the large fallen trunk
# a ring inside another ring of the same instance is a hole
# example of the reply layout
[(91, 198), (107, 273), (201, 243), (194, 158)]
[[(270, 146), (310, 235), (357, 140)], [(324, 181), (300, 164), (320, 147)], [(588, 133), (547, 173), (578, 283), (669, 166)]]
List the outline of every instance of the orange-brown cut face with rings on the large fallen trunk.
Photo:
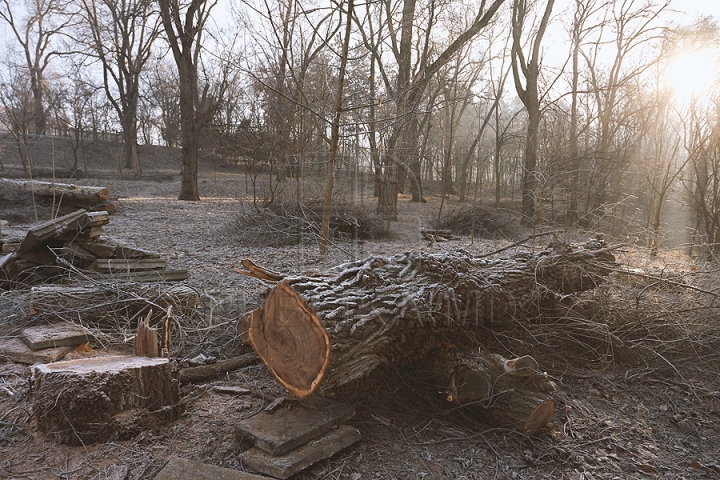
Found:
[(245, 319), (250, 345), (291, 395), (317, 390), (330, 363), (330, 338), (318, 316), (286, 281)]

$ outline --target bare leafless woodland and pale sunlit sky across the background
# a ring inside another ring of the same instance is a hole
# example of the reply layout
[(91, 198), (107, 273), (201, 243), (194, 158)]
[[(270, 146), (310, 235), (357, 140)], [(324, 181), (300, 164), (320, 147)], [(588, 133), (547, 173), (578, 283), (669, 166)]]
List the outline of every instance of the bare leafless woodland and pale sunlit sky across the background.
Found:
[(715, 253), (720, 33), (712, 17), (682, 9), (3, 2), (0, 173), (49, 176), (37, 145), (62, 137), (70, 147), (51, 175), (87, 175), (100, 141), (117, 145), (113, 168), (141, 176), (153, 157), (139, 146), (159, 144), (178, 148), (170, 174), (182, 200), (199, 199), (208, 157), (242, 169), (260, 208), (295, 200), (278, 198), (273, 179), (315, 179), (322, 245), (334, 176), (347, 175), (372, 185), (384, 219), (397, 218), (402, 195), (437, 197), (441, 212), (482, 201), (510, 205), (526, 224), (636, 239), (653, 254), (663, 242)]

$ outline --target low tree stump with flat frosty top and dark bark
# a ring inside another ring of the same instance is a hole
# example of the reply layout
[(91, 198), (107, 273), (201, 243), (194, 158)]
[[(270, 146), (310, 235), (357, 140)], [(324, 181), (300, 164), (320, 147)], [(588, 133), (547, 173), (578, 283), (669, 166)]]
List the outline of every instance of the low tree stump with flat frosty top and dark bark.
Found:
[(40, 365), (33, 373), (38, 427), (62, 444), (132, 438), (181, 413), (166, 358), (87, 358)]

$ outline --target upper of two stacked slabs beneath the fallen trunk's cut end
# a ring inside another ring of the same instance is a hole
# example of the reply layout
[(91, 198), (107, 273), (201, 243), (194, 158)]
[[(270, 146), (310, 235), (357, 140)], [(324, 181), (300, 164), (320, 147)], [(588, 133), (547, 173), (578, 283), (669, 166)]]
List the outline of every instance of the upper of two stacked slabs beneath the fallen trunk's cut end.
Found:
[(249, 438), (256, 447), (271, 455), (282, 455), (293, 448), (350, 420), (355, 409), (323, 397), (311, 397), (292, 408), (260, 412), (236, 425), (238, 437)]

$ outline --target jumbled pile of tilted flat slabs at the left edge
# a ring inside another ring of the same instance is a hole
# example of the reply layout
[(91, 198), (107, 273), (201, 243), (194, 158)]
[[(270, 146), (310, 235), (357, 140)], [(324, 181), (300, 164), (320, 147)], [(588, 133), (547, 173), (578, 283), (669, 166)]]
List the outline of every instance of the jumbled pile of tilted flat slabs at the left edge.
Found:
[(0, 287), (69, 279), (73, 271), (79, 270), (86, 271), (81, 278), (96, 280), (156, 282), (187, 278), (186, 270), (168, 269), (167, 261), (157, 253), (101, 239), (102, 226), (109, 221), (107, 211), (80, 209), (36, 225), (22, 241), (3, 243)]

